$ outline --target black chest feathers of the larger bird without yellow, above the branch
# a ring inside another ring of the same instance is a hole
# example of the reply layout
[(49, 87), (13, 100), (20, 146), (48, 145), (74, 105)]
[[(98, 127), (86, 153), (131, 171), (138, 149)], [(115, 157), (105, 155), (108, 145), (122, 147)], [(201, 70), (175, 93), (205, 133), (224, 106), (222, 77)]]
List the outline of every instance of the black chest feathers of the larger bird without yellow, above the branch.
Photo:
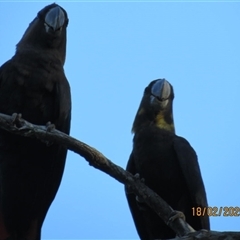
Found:
[(22, 113), (28, 121), (43, 124), (68, 111), (60, 112), (60, 96), (68, 85), (58, 59), (17, 54), (4, 68), (2, 79), (0, 102), (5, 104), (1, 111), (6, 114)]

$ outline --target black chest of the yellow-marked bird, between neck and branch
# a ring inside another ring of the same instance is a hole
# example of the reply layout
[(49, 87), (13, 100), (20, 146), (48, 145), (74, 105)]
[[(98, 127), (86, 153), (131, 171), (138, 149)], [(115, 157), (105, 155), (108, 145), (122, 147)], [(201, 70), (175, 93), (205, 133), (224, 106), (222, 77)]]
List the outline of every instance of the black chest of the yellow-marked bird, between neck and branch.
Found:
[(149, 131), (135, 137), (133, 154), (136, 173), (166, 201), (173, 193), (181, 196), (184, 182), (172, 136)]

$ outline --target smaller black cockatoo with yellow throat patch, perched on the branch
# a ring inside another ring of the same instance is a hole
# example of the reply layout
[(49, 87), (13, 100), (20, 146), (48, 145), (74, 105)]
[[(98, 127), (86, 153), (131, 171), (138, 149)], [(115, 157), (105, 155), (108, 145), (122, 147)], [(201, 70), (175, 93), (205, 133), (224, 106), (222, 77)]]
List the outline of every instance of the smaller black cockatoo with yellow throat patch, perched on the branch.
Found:
[[(173, 87), (165, 79), (145, 89), (133, 123), (133, 150), (127, 171), (139, 173), (145, 184), (174, 210), (182, 211), (196, 230), (209, 229), (208, 216), (193, 216), (193, 207), (206, 207), (207, 198), (197, 155), (188, 141), (175, 134)], [(141, 239), (174, 238), (175, 233), (125, 188), (128, 204)]]

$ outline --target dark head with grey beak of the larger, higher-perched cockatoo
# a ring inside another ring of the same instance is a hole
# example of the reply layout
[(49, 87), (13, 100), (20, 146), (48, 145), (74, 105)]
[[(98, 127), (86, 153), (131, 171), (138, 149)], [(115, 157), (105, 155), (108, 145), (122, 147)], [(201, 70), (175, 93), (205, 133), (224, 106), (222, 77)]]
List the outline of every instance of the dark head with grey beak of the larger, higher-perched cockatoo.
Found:
[(29, 24), (22, 39), (17, 44), (17, 50), (24, 48), (57, 50), (64, 63), (67, 25), (67, 12), (55, 3), (50, 4), (39, 11), (37, 17)]

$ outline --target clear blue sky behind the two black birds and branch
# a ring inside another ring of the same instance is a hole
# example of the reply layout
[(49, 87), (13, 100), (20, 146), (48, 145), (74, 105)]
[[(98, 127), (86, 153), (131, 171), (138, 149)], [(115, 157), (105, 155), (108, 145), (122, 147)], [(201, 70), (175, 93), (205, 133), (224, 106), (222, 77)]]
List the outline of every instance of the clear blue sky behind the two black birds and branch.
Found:
[[(0, 65), (52, 1), (0, 1)], [(209, 206), (240, 207), (240, 3), (61, 2), (69, 16), (65, 72), (71, 135), (121, 167), (143, 90), (174, 87), (176, 132), (197, 152)], [(239, 231), (240, 217), (211, 217)], [(123, 185), (69, 152), (43, 239), (137, 239)]]

